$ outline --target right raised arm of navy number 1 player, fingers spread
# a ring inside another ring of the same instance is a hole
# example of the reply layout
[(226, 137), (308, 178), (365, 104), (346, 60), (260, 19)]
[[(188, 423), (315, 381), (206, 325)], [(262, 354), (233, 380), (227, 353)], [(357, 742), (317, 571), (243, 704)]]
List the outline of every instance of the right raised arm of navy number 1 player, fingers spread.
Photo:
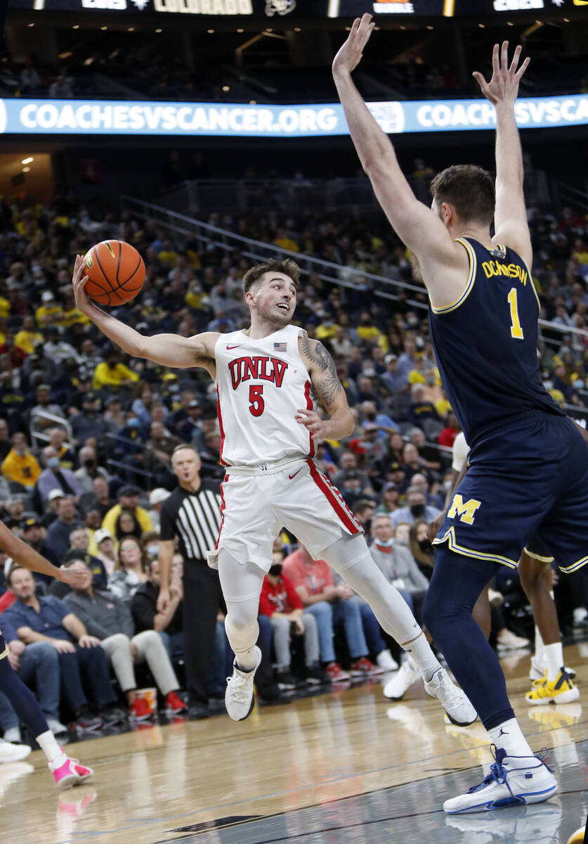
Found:
[(523, 166), (521, 138), (516, 127), (515, 103), (522, 74), (529, 66), (527, 57), (519, 68), (521, 46), (517, 46), (510, 65), (508, 41), (494, 44), (492, 78), (486, 82), (482, 73), (473, 78), (496, 111), (496, 210), (494, 243), (504, 243), (519, 253), (531, 267), (531, 235), (527, 225), (527, 208), (522, 189)]

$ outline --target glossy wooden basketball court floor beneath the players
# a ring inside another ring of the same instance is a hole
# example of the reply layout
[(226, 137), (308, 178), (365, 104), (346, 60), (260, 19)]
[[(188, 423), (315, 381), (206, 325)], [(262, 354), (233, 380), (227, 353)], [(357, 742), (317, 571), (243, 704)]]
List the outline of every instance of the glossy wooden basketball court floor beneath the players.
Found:
[[(334, 690), (226, 716), (179, 721), (69, 745), (90, 785), (58, 794), (40, 752), (0, 766), (2, 844), (565, 844), (588, 812), (588, 644), (565, 649), (580, 701), (529, 707), (529, 655), (503, 660), (533, 749), (550, 749), (560, 782), (537, 806), (447, 819), (441, 803), (491, 761), (479, 722), (447, 726), (417, 683), (403, 701), (382, 684)], [(487, 770), (487, 769), (486, 769)]]

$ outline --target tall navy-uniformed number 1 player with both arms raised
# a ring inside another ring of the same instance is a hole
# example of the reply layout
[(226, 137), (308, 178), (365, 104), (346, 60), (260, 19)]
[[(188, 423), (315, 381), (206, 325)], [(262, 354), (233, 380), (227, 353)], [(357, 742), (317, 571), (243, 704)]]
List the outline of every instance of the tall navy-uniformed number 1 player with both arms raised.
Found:
[[(543, 387), (537, 365), (539, 302), (515, 122), (521, 47), (494, 46), (492, 78), (474, 73), (496, 114), (496, 185), (458, 165), (432, 181), (433, 203), (414, 197), (393, 145), (351, 80), (372, 34), (356, 19), (334, 58), (334, 81), (361, 165), (398, 236), (414, 252), (430, 300), (441, 381), (468, 444), (470, 468), (435, 538), (423, 607), (428, 630), (476, 707), (495, 747), (489, 776), (446, 800), (448, 813), (538, 803), (557, 782), (533, 755), (506, 695), (498, 658), (472, 617), (500, 565), (516, 567), (538, 536), (562, 571), (588, 563), (588, 452)], [(494, 237), (489, 227), (494, 219)]]

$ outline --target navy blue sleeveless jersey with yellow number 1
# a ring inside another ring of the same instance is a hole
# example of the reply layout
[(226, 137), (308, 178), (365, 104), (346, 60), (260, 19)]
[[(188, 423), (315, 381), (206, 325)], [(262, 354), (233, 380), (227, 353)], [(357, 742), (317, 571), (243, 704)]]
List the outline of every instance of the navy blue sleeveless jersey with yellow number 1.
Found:
[(469, 257), (462, 295), (429, 308), (441, 381), (470, 446), (497, 422), (539, 411), (564, 416), (543, 387), (537, 362), (539, 300), (525, 262), (459, 237)]

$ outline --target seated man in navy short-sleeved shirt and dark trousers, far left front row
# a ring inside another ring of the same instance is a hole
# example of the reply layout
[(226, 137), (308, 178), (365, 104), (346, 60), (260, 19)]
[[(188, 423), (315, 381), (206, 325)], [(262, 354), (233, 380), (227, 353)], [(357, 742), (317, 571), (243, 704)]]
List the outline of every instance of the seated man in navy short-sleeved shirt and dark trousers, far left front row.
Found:
[[(94, 636), (71, 612), (67, 604), (52, 595), (35, 595), (35, 581), (28, 569), (13, 566), (8, 574), (8, 587), (16, 601), (5, 618), (25, 645), (49, 642), (57, 652), (61, 690), (75, 718), (76, 728), (98, 729), (104, 723), (120, 720), (115, 707), (116, 697), (110, 685), (108, 661)], [(92, 691), (92, 700), (99, 714), (94, 716), (84, 694), (82, 674)], [(115, 719), (113, 721), (113, 719)]]

